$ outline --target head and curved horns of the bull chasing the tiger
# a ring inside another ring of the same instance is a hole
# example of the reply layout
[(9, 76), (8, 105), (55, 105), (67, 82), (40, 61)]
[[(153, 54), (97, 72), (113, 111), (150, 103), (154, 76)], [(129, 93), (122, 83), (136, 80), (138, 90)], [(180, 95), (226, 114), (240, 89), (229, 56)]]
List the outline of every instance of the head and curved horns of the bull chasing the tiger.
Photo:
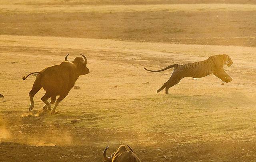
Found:
[[(66, 55), (65, 61), (68, 61), (68, 55), (69, 54)], [(74, 61), (72, 61), (72, 63), (74, 63), (76, 65), (80, 75), (86, 75), (86, 74), (90, 73), (90, 70), (88, 69), (88, 67), (86, 67), (86, 64), (87, 64), (86, 57), (83, 54), (81, 54), (81, 55), (84, 57), (84, 59), (79, 56), (79, 57), (76, 57), (74, 59)]]

